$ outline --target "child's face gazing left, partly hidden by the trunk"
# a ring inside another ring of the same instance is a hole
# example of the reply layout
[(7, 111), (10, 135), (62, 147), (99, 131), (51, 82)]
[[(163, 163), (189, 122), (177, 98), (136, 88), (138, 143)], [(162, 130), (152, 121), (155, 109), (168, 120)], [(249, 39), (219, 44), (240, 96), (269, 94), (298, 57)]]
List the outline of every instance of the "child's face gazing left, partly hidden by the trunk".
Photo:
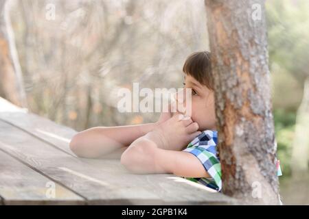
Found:
[[(185, 75), (185, 81), (183, 85), (185, 89), (192, 89), (191, 118), (193, 122), (198, 123), (198, 130), (216, 130), (214, 91), (209, 90), (207, 86), (203, 86), (201, 83), (196, 81), (194, 77), (190, 75)], [(187, 103), (185, 100), (185, 94), (183, 95), (183, 97), (185, 102), (184, 105), (186, 106)]]

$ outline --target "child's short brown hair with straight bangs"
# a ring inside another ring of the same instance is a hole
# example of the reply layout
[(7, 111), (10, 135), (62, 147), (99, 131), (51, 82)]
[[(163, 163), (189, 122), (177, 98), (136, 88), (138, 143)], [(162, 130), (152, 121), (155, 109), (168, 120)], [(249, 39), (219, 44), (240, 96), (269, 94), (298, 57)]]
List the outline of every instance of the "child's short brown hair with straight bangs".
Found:
[(189, 55), (183, 64), (183, 73), (194, 77), (196, 81), (207, 86), (210, 90), (214, 90), (208, 51), (198, 51)]

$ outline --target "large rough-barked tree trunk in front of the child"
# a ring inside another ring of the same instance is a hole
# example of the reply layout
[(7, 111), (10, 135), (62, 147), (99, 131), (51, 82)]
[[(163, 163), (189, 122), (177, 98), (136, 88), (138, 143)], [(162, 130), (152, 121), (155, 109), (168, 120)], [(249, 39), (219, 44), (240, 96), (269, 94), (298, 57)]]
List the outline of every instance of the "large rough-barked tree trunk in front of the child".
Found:
[(277, 205), (264, 1), (205, 0), (205, 5), (222, 192), (247, 203)]

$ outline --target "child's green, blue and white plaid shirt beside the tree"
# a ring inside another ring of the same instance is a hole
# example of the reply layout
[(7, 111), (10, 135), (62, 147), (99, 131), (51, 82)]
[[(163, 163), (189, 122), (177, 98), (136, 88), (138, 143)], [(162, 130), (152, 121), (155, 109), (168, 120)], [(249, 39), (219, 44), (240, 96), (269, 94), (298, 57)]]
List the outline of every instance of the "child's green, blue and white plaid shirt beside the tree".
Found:
[[(198, 135), (192, 142), (187, 145), (187, 148), (183, 151), (187, 151), (195, 155), (203, 164), (205, 170), (211, 176), (211, 178), (190, 178), (190, 181), (206, 185), (207, 187), (220, 192), (222, 188), (221, 181), (221, 165), (216, 150), (218, 142), (218, 132), (206, 130)], [(279, 166), (279, 160), (277, 161), (277, 176), (281, 176), (282, 172)]]

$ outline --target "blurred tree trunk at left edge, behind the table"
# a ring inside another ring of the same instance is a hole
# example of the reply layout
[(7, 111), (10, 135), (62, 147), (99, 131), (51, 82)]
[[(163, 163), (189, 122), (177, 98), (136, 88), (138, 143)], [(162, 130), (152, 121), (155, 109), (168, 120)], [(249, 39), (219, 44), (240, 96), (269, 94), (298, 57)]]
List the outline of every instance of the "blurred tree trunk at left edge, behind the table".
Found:
[(21, 66), (7, 8), (7, 1), (0, 1), (0, 96), (15, 105), (27, 107)]

